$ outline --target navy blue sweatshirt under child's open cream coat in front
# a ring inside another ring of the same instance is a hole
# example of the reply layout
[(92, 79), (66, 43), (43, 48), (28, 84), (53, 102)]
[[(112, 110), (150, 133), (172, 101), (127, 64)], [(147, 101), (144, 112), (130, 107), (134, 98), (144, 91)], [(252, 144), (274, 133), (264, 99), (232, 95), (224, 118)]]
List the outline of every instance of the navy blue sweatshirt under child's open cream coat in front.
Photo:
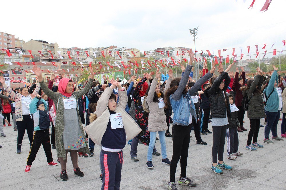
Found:
[[(110, 115), (116, 114), (109, 110)], [(106, 148), (123, 149), (126, 145), (126, 133), (124, 128), (111, 129), (110, 118), (106, 131), (102, 137), (101, 145)]]

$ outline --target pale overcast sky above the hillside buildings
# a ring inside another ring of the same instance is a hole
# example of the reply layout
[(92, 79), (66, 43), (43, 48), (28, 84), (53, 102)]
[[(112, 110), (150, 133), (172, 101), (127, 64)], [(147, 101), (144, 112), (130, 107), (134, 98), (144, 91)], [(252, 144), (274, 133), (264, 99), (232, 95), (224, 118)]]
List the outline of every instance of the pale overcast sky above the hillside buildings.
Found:
[[(247, 52), (283, 49), (286, 39), (286, 1), (273, 0), (262, 13), (265, 0), (200, 1), (13, 1), (5, 5), (0, 30), (24, 41), (57, 42), (59, 47), (138, 48), (190, 47), (189, 29), (198, 27), (196, 50), (240, 47)], [(11, 6), (11, 8), (8, 8)], [(5, 21), (5, 22), (4, 22)], [(286, 47), (286, 46), (285, 46)], [(272, 49), (273, 49), (272, 48)], [(239, 57), (238, 56), (238, 57)]]

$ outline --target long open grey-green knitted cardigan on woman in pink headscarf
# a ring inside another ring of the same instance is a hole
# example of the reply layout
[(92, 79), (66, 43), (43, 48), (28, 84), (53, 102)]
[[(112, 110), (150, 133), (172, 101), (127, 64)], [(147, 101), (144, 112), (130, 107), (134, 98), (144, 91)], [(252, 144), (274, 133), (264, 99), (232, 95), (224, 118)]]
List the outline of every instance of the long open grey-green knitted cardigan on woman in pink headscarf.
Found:
[[(82, 89), (79, 90), (77, 92), (73, 92), (72, 94), (75, 96), (76, 100), (78, 100), (78, 98), (82, 97), (84, 94), (86, 94), (88, 92), (88, 90), (90, 90), (92, 82), (94, 80), (93, 79), (89, 79), (88, 83), (86, 84), (86, 86)], [(47, 85), (45, 84), (44, 81), (40, 82), (40, 86), (43, 90), (43, 92), (53, 100), (54, 104), (55, 104), (55, 109), (56, 109), (56, 119), (55, 119), (55, 144), (57, 147), (57, 157), (63, 158), (65, 160), (65, 147), (63, 145), (63, 128), (64, 128), (64, 122), (63, 122), (63, 111), (64, 111), (64, 105), (63, 105), (63, 95), (59, 92), (53, 92), (51, 91)], [(77, 101), (78, 102), (78, 101)], [(59, 103), (59, 104), (58, 104)], [(57, 105), (58, 104), (58, 105)], [(77, 112), (78, 112), (78, 106), (76, 108)], [(75, 116), (70, 116), (70, 118), (74, 118)], [(82, 135), (84, 135), (84, 130), (82, 128), (82, 123), (81, 123), (81, 118), (80, 118), (80, 114), (78, 112), (78, 124), (80, 126), (80, 130), (82, 132)], [(84, 153), (90, 153), (89, 148), (88, 148), (88, 143), (87, 141), (84, 139), (85, 143), (86, 143), (86, 147), (78, 149), (78, 152), (84, 152)]]

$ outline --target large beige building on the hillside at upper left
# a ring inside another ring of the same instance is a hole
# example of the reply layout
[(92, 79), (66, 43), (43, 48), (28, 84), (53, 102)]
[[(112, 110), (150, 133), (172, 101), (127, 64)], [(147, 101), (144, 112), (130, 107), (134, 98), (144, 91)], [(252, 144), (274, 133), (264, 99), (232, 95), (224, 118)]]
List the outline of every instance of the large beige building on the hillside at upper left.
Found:
[(51, 51), (53, 54), (57, 54), (59, 45), (55, 43), (49, 43), (43, 40), (33, 40), (23, 43), (23, 49), (32, 50), (32, 54), (38, 54), (38, 50), (42, 51), (42, 54), (49, 54), (47, 51)]

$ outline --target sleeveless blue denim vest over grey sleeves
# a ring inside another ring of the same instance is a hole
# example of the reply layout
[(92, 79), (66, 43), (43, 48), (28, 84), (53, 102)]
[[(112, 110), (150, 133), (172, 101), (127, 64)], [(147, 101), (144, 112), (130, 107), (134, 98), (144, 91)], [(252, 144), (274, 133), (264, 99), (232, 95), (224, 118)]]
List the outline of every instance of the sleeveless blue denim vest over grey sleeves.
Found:
[[(189, 93), (187, 92), (187, 94), (182, 94), (181, 98), (177, 101), (173, 100), (172, 96), (173, 95), (170, 96), (170, 102), (174, 112), (174, 124), (188, 126), (190, 114), (195, 118), (196, 123), (198, 123), (196, 117), (196, 107)], [(191, 101), (191, 105), (189, 101)]]

